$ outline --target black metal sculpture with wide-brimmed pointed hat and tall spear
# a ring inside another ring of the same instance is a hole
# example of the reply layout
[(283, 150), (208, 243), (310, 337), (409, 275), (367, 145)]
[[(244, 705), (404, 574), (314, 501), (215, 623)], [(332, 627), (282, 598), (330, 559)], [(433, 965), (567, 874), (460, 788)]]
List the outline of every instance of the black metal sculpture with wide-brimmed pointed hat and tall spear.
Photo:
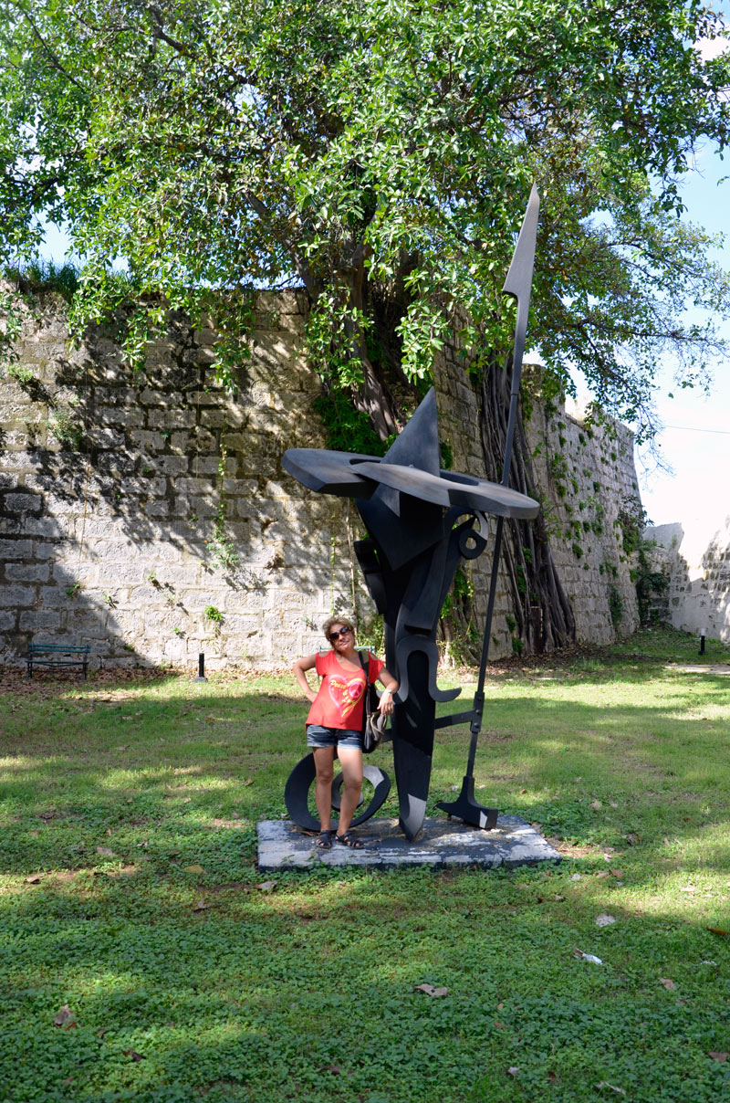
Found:
[[(375, 607), (383, 614), (386, 666), (400, 684), (395, 696), (393, 754), (400, 825), (409, 839), (416, 837), (426, 815), (434, 730), (452, 724), (471, 724), (469, 765), (460, 797), (453, 804), (439, 806), (479, 827), (496, 824), (496, 808), (483, 807), (474, 801), (473, 765), (484, 709), (484, 676), (504, 518), (528, 520), (539, 508), (533, 499), (507, 486), (538, 210), (539, 199), (533, 189), (504, 286), (505, 292), (517, 299), (517, 322), (502, 483), (439, 469), (433, 390), (383, 459), (319, 449), (289, 449), (282, 459), (285, 469), (310, 490), (354, 497), (368, 533), (368, 539), (357, 542), (355, 550)], [(437, 719), (437, 702), (452, 700), (461, 693), (461, 689), (439, 689), (437, 685), (439, 614), (460, 558), (473, 559), (486, 547), (486, 514), (495, 514), (498, 521), (477, 693), (472, 709)], [(297, 770), (301, 777), (294, 782)], [(289, 779), (290, 812), (292, 804), (302, 804), (300, 790), (307, 772), (300, 763)], [(359, 822), (363, 818), (366, 817), (362, 816)]]

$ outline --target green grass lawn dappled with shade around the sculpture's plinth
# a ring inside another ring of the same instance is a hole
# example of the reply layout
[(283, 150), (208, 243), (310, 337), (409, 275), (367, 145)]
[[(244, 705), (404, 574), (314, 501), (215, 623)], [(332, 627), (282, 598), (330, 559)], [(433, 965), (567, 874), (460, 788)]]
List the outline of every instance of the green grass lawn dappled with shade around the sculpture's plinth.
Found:
[[(670, 661), (696, 641), (490, 673), (480, 799), (559, 865), (271, 891), (291, 677), (7, 674), (0, 1101), (730, 1101), (730, 676)], [(437, 732), (430, 814), (468, 742)]]

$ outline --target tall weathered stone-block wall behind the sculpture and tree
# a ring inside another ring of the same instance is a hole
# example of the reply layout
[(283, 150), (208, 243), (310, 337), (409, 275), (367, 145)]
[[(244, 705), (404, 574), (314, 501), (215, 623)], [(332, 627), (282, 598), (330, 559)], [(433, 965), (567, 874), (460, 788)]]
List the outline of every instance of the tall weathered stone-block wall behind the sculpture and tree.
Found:
[[(0, 378), (0, 655), (31, 640), (92, 645), (105, 665), (276, 667), (319, 647), (320, 624), (369, 599), (353, 565), (354, 507), (310, 494), (281, 469), (289, 447), (326, 447), (319, 383), (300, 352), (303, 298), (261, 292), (235, 396), (216, 387), (215, 334), (171, 315), (143, 372), (114, 332), (69, 351), (64, 303), (25, 311)], [(440, 431), (455, 470), (484, 476), (476, 396), (458, 350), (436, 365)], [(637, 500), (631, 433), (587, 431), (562, 407), (529, 426), (554, 557), (579, 639), (632, 631), (622, 545)], [(483, 623), (490, 550), (470, 565)], [(479, 627), (479, 624), (477, 624)], [(506, 585), (494, 657), (519, 650)]]

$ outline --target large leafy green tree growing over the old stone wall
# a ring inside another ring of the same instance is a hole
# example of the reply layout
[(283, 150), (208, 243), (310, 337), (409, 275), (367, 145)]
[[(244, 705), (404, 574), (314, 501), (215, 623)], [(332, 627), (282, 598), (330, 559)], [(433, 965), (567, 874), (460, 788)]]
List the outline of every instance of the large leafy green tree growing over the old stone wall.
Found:
[[(232, 292), (217, 314), (225, 375), (241, 354), (236, 293), (303, 285), (332, 408), (347, 396), (380, 439), (455, 329), (498, 476), (512, 334), (500, 292), (536, 180), (530, 343), (556, 385), (580, 367), (641, 436), (667, 349), (686, 384), (701, 378), (712, 329), (685, 326), (681, 308), (730, 302), (709, 239), (678, 218), (697, 142), (723, 148), (729, 130), (727, 58), (704, 62), (694, 45), (721, 29), (701, 3), (0, 0), (0, 234), (20, 255), (41, 211), (67, 219), (86, 258), (79, 321), (118, 301), (116, 257), (125, 293), (162, 291), (192, 314)], [(139, 351), (162, 308), (137, 301)], [(523, 453), (515, 484), (529, 490)], [(513, 536), (518, 555), (528, 545)], [(570, 615), (538, 543), (520, 569), (555, 612), (550, 644), (569, 636)]]

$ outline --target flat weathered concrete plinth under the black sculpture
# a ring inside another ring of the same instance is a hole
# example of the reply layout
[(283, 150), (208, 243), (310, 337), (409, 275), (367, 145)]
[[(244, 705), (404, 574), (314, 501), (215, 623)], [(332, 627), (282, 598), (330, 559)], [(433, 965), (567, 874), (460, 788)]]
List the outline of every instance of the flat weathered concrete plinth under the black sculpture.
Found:
[[(323, 866), (357, 866), (391, 869), (396, 866), (526, 866), (559, 861), (560, 855), (519, 816), (500, 816), (494, 831), (480, 831), (459, 820), (427, 820), (414, 843), (397, 820), (368, 820), (355, 832), (364, 844), (351, 850), (333, 840), (331, 850), (320, 850), (316, 835), (304, 833), (286, 820), (261, 820), (258, 825), (259, 869), (311, 869)], [(334, 839), (334, 836), (333, 836)]]

